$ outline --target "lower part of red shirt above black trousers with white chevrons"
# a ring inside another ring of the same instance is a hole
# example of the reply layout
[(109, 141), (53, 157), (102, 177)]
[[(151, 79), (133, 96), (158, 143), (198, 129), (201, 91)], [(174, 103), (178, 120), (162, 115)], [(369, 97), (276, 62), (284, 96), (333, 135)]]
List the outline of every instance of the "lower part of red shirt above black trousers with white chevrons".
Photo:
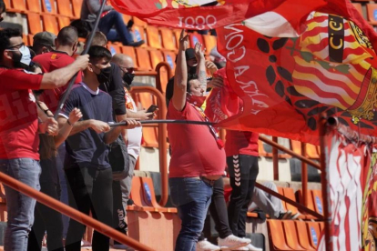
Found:
[(227, 156), (260, 156), (258, 153), (259, 134), (246, 131), (227, 131), (225, 152)]

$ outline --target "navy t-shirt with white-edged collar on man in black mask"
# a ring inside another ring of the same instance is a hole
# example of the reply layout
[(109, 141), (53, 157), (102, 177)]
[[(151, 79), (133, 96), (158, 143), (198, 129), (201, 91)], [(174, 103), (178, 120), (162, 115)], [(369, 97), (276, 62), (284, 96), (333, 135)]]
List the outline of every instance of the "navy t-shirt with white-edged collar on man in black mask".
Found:
[[(113, 122), (111, 96), (97, 90), (93, 92), (84, 83), (74, 85), (69, 94), (64, 109), (60, 115), (69, 116), (75, 108), (79, 108), (83, 117), (80, 119), (96, 119), (106, 123)], [(84, 164), (97, 169), (110, 168), (108, 161), (108, 146), (104, 143), (104, 133), (97, 134), (88, 128), (66, 138), (65, 168)]]

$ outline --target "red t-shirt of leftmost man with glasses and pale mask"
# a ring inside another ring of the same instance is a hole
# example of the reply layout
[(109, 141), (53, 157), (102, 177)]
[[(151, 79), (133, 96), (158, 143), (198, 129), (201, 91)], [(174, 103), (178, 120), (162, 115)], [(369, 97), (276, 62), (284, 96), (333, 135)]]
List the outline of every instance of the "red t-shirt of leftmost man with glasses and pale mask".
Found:
[(43, 75), (0, 68), (0, 159), (39, 160), (38, 115), (34, 95)]

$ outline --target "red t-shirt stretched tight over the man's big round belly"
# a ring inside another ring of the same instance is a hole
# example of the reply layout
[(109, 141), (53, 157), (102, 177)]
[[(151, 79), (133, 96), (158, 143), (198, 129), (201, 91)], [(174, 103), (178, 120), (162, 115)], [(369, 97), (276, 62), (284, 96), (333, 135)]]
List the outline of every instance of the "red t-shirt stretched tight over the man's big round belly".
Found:
[[(168, 119), (204, 121), (189, 102), (179, 112), (170, 102)], [(219, 148), (209, 126), (168, 124), (171, 146), (169, 177), (222, 176), (226, 166), (225, 151)]]

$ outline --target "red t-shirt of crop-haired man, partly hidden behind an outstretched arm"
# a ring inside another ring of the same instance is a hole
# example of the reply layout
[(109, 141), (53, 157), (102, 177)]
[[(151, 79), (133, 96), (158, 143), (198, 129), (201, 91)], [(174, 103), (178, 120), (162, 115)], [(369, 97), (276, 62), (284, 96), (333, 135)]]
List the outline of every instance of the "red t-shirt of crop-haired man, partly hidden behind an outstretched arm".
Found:
[[(65, 52), (53, 51), (36, 55), (36, 57), (33, 58), (33, 61), (42, 65), (45, 73), (49, 73), (72, 64), (75, 59), (72, 56), (67, 55)], [(82, 82), (82, 74), (81, 72), (78, 72), (75, 84), (80, 82)], [(66, 87), (67, 85), (64, 85), (53, 90), (45, 90), (45, 92), (40, 95), (39, 100), (43, 101), (47, 107), (55, 113), (57, 105), (59, 104), (60, 95), (66, 91)]]

